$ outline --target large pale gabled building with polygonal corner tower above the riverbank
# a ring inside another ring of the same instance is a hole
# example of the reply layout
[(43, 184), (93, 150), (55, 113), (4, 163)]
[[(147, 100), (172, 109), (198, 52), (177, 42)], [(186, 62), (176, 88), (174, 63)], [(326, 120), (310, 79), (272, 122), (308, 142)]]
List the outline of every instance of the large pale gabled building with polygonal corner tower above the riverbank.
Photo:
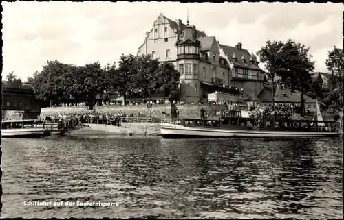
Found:
[(264, 71), (257, 58), (242, 45), (220, 45), (189, 21), (172, 21), (163, 14), (146, 32), (138, 56), (150, 54), (160, 62), (171, 62), (180, 71), (182, 101), (198, 103), (215, 91), (248, 96), (263, 88)]

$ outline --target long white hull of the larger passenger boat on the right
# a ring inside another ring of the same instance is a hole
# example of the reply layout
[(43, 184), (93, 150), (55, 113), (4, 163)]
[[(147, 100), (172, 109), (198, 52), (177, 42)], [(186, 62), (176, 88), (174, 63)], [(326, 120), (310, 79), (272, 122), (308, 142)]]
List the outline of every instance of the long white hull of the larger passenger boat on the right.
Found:
[(343, 132), (303, 132), (274, 130), (230, 130), (208, 127), (186, 127), (162, 123), (160, 135), (164, 138), (210, 138), (210, 137), (245, 137), (245, 138), (294, 138), (294, 137), (325, 137), (340, 136)]

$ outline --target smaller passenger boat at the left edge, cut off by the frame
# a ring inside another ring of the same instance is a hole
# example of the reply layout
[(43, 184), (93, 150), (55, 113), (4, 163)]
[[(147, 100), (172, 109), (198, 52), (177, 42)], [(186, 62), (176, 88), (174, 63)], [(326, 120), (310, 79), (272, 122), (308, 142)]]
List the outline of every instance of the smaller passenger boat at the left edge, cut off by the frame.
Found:
[(34, 119), (1, 121), (1, 136), (3, 138), (40, 138), (49, 135), (41, 121)]

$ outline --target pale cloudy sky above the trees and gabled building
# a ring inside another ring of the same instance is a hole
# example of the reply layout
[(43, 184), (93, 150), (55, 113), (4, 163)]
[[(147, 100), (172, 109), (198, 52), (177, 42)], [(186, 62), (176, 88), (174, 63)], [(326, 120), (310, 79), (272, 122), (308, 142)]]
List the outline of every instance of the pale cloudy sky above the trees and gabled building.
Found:
[(162, 13), (189, 21), (224, 45), (257, 52), (267, 40), (292, 38), (311, 47), (315, 71), (326, 71), (327, 51), (342, 47), (340, 3), (126, 3), (3, 1), (3, 77), (26, 79), (47, 60), (83, 65), (136, 55)]

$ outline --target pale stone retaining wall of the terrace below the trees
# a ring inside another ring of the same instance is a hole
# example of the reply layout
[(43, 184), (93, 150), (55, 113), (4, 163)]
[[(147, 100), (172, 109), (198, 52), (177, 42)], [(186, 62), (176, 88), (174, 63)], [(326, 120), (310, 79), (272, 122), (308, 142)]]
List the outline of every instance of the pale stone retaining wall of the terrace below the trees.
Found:
[[(200, 109), (204, 108), (206, 110), (206, 114), (209, 114), (209, 117), (213, 117), (216, 111), (219, 110), (227, 110), (227, 106), (219, 106), (219, 105), (177, 105), (178, 111), (180, 112), (180, 117), (189, 117), (189, 118), (199, 118), (200, 117)], [(52, 115), (56, 113), (77, 113), (81, 112), (86, 107), (56, 107), (56, 108), (42, 108), (41, 109), (41, 117), (45, 117), (46, 115)], [(145, 105), (140, 106), (96, 106), (96, 112), (109, 112), (109, 113), (120, 113), (124, 112), (127, 114), (138, 114), (140, 112), (142, 116), (149, 117), (149, 109)], [(170, 105), (153, 105), (152, 108), (152, 117), (154, 118), (161, 118), (162, 111), (171, 114), (171, 106)]]

